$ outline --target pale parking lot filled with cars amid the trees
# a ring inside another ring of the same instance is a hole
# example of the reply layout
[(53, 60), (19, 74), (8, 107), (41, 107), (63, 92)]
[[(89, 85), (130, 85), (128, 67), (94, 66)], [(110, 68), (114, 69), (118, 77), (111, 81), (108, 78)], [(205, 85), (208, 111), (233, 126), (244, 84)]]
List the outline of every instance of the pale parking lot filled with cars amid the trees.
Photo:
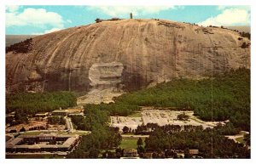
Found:
[[(183, 114), (189, 116), (187, 121), (177, 120), (177, 115)], [(167, 124), (171, 125), (193, 125), (202, 126), (203, 128), (215, 127), (218, 123), (224, 124), (224, 122), (204, 122), (193, 116), (194, 111), (179, 111), (179, 110), (143, 110), (141, 117), (125, 117), (125, 116), (111, 116), (111, 127), (131, 127), (136, 129), (138, 125), (146, 125), (147, 123), (157, 123), (160, 126)]]

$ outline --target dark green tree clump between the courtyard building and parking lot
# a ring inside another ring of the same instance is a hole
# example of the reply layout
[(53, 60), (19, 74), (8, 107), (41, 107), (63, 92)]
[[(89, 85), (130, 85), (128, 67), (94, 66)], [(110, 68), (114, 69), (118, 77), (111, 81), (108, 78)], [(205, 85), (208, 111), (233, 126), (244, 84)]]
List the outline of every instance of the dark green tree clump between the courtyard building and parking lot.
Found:
[(109, 113), (107, 110), (89, 108), (84, 110), (84, 116), (72, 116), (72, 121), (78, 129), (90, 130), (83, 136), (79, 146), (67, 158), (97, 158), (102, 150), (113, 150), (121, 142), (118, 127), (108, 127)]

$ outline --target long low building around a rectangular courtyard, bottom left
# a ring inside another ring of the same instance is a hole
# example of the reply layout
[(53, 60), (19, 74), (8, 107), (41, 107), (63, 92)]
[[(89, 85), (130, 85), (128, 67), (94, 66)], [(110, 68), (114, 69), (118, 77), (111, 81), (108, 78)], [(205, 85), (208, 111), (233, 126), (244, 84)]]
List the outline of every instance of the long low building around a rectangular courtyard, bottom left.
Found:
[(79, 135), (58, 135), (56, 133), (40, 133), (32, 136), (20, 136), (6, 143), (7, 152), (33, 153), (71, 151), (79, 143)]

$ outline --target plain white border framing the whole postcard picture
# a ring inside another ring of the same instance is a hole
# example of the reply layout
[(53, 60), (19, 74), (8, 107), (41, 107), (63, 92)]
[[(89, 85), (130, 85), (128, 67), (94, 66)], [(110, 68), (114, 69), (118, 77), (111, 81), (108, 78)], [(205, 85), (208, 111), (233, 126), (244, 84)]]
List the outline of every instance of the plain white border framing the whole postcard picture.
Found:
[[(1, 48), (1, 59), (0, 59), (0, 72), (1, 72), (1, 96), (0, 96), (0, 105), (1, 105), (1, 110), (0, 110), (0, 116), (2, 117), (1, 120), (2, 122), (0, 123), (1, 126), (1, 132), (0, 132), (0, 139), (2, 145), (0, 146), (0, 163), (5, 164), (5, 163), (19, 163), (19, 164), (27, 164), (27, 163), (63, 163), (63, 164), (70, 164), (72, 162), (78, 162), (78, 163), (138, 163), (138, 162), (147, 162), (148, 164), (153, 164), (153, 163), (256, 163), (255, 161), (255, 142), (253, 139), (256, 139), (255, 137), (255, 110), (256, 107), (255, 101), (253, 101), (256, 96), (255, 96), (255, 91), (256, 91), (256, 80), (255, 80), (255, 33), (253, 29), (255, 29), (255, 5), (253, 3), (253, 0), (242, 0), (242, 1), (236, 1), (236, 0), (215, 0), (215, 1), (207, 1), (207, 0), (183, 0), (183, 1), (178, 1), (178, 0), (129, 0), (129, 1), (121, 1), (121, 0), (1, 0), (0, 1), (0, 48)], [(251, 88), (251, 128), (252, 128), (252, 135), (251, 135), (251, 140), (252, 140), (252, 151), (251, 151), (251, 159), (248, 160), (168, 160), (168, 159), (160, 159), (160, 160), (44, 160), (44, 159), (38, 159), (38, 160), (33, 160), (33, 159), (28, 159), (28, 160), (13, 160), (13, 159), (5, 159), (5, 127), (4, 127), (4, 120), (5, 120), (5, 5), (143, 5), (143, 6), (149, 6), (149, 5), (251, 5), (251, 29), (252, 29), (252, 46), (251, 46), (251, 83), (252, 83), (252, 88)]]

